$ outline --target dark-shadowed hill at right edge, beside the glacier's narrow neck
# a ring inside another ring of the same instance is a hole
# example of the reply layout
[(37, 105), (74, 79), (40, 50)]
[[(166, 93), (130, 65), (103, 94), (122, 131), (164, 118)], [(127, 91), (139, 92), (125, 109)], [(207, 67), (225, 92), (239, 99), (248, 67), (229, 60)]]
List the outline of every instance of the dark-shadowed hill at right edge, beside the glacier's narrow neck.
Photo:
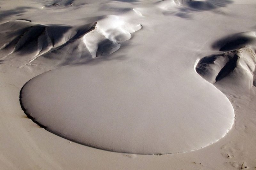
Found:
[(213, 48), (226, 51), (206, 56), (197, 63), (195, 70), (210, 83), (221, 81), (226, 76), (243, 75), (243, 85), (255, 86), (256, 54), (255, 32), (238, 33), (224, 37), (213, 44)]

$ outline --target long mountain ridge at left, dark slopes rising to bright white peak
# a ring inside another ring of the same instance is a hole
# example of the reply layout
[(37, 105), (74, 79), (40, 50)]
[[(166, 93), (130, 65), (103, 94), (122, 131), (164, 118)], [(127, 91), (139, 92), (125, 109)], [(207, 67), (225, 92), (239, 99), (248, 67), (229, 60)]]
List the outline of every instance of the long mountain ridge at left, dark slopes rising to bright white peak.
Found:
[[(110, 26), (106, 27), (106, 23)], [(112, 24), (111, 24), (112, 23)], [(126, 23), (118, 16), (107, 15), (95, 23), (80, 26), (41, 25), (26, 20), (0, 25), (2, 62), (25, 57), (30, 64), (38, 57), (70, 64), (115, 52), (119, 42), (131, 38), (141, 25)]]

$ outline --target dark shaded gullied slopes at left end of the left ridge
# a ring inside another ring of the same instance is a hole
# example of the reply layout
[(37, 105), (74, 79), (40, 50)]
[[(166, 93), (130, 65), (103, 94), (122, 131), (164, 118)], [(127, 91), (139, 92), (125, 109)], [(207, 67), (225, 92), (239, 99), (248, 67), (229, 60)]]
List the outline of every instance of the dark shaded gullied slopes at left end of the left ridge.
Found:
[(0, 38), (6, 40), (1, 50), (17, 52), (20, 55), (34, 53), (39, 48), (44, 50), (48, 46), (54, 47), (72, 28), (65, 25), (34, 24), (26, 20), (10, 21), (0, 26), (2, 28)]

